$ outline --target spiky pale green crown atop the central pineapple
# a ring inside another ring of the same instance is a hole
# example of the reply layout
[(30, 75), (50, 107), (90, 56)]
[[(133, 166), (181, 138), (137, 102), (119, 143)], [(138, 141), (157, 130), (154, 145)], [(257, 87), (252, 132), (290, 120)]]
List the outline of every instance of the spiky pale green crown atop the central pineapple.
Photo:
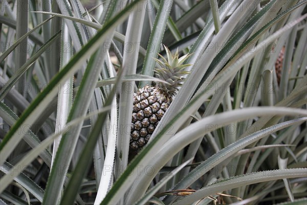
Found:
[(189, 74), (189, 71), (184, 71), (184, 69), (191, 64), (183, 64), (183, 62), (191, 55), (186, 54), (179, 58), (178, 48), (175, 53), (171, 53), (170, 50), (163, 45), (166, 51), (167, 60), (158, 53), (158, 55), (162, 58), (159, 60), (157, 58), (153, 58), (157, 61), (157, 63), (162, 67), (159, 69), (155, 69), (156, 75), (163, 79), (166, 83), (156, 82), (156, 86), (162, 89), (165, 93), (170, 96), (175, 96), (179, 91), (179, 87), (183, 85), (183, 82), (186, 78), (183, 78), (184, 75)]

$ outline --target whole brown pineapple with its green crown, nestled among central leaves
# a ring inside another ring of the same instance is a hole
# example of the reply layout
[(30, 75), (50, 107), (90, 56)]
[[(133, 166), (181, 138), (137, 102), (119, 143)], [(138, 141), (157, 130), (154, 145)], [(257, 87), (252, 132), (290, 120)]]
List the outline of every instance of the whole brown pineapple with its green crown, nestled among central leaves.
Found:
[(164, 46), (167, 60), (159, 54), (162, 60), (156, 59), (162, 67), (155, 69), (158, 78), (167, 83), (155, 82), (155, 86), (146, 85), (134, 94), (132, 126), (130, 133), (130, 151), (139, 152), (148, 142), (151, 134), (155, 131), (160, 119), (163, 117), (173, 98), (182, 86), (188, 74), (184, 69), (189, 64), (183, 62), (190, 56), (186, 54), (179, 58), (178, 49), (172, 54)]

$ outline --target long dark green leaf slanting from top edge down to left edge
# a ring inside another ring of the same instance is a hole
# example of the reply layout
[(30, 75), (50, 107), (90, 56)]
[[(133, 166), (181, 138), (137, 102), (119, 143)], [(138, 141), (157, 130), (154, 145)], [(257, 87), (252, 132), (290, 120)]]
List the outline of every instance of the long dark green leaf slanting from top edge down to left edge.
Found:
[[(80, 63), (83, 63), (95, 50), (102, 44), (109, 35), (110, 31), (116, 27), (116, 23), (122, 22), (128, 15), (125, 13), (127, 9), (131, 8), (131, 5), (136, 4), (136, 2), (129, 4), (121, 13), (116, 15), (112, 20), (110, 20), (98, 33), (95, 35), (89, 43), (87, 43), (73, 58), (72, 60), (61, 70), (58, 74), (50, 81), (50, 84), (38, 94), (37, 98), (32, 101), (28, 109), (20, 116), (19, 120), (16, 121), (14, 128), (6, 135), (2, 143), (0, 144), (1, 164), (11, 153), (12, 149), (16, 146), (14, 138), (18, 138), (20, 133), (17, 133), (18, 128), (24, 125), (31, 125), (35, 119), (38, 117), (39, 113), (43, 112), (48, 106), (46, 102), (53, 99), (57, 94), (56, 86), (59, 83), (64, 83), (68, 77), (70, 77), (75, 71), (80, 68)], [(125, 13), (124, 15), (122, 15)], [(42, 101), (42, 103), (40, 103)], [(44, 103), (45, 102), (45, 103)], [(29, 129), (29, 128), (28, 128)], [(28, 131), (27, 128), (24, 130)]]

